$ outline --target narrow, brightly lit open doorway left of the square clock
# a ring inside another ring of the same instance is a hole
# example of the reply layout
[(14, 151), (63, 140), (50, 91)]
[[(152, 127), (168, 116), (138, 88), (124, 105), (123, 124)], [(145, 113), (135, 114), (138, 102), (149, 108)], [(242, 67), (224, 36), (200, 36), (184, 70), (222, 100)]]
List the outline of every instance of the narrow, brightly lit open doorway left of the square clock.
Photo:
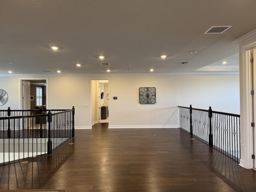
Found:
[(108, 80), (91, 80), (91, 122), (109, 122)]

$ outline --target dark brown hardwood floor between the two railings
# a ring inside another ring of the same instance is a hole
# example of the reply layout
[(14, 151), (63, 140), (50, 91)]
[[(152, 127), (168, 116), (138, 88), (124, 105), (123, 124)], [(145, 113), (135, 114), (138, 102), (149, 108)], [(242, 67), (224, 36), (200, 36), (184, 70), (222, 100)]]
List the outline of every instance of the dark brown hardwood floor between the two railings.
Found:
[[(76, 130), (52, 155), (0, 166), (0, 189), (254, 192), (256, 172), (179, 129)], [(74, 143), (74, 144), (72, 144)]]

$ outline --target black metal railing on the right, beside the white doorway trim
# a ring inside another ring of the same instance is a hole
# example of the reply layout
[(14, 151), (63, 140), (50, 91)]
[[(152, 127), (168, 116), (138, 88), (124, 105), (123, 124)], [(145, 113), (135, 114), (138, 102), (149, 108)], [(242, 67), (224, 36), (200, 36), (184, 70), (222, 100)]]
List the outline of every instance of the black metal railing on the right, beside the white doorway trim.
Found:
[(180, 129), (240, 162), (240, 115), (179, 106)]

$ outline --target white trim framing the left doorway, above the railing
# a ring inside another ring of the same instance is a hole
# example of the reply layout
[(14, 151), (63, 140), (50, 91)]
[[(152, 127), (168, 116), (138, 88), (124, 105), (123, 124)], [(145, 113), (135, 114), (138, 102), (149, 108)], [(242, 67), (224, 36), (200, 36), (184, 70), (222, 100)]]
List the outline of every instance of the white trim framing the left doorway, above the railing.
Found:
[(45, 80), (46, 81), (46, 106), (48, 105), (48, 78), (47, 77), (22, 77), (18, 78), (18, 110), (22, 110), (22, 81), (23, 80)]

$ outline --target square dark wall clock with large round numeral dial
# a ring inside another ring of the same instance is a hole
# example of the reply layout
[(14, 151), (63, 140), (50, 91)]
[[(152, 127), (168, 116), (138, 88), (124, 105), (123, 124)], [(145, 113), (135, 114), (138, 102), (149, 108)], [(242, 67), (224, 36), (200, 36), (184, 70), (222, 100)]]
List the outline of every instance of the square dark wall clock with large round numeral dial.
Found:
[(140, 104), (156, 103), (156, 88), (155, 87), (140, 87), (139, 98), (140, 98)]

